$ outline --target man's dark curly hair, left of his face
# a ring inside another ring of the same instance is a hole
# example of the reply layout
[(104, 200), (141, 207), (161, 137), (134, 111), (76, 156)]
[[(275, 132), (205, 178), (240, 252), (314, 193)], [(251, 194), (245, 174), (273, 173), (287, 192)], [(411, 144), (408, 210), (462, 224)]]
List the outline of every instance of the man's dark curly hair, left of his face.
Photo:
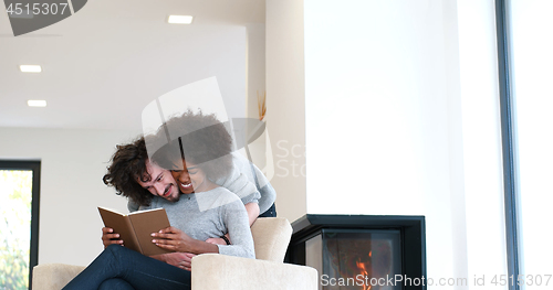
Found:
[(149, 205), (152, 193), (145, 190), (137, 180), (148, 182), (152, 180), (146, 170), (148, 153), (144, 137), (139, 137), (128, 144), (119, 144), (109, 160), (112, 164), (107, 167), (107, 173), (103, 181), (106, 185), (113, 186), (117, 195), (131, 197), (134, 203)]

